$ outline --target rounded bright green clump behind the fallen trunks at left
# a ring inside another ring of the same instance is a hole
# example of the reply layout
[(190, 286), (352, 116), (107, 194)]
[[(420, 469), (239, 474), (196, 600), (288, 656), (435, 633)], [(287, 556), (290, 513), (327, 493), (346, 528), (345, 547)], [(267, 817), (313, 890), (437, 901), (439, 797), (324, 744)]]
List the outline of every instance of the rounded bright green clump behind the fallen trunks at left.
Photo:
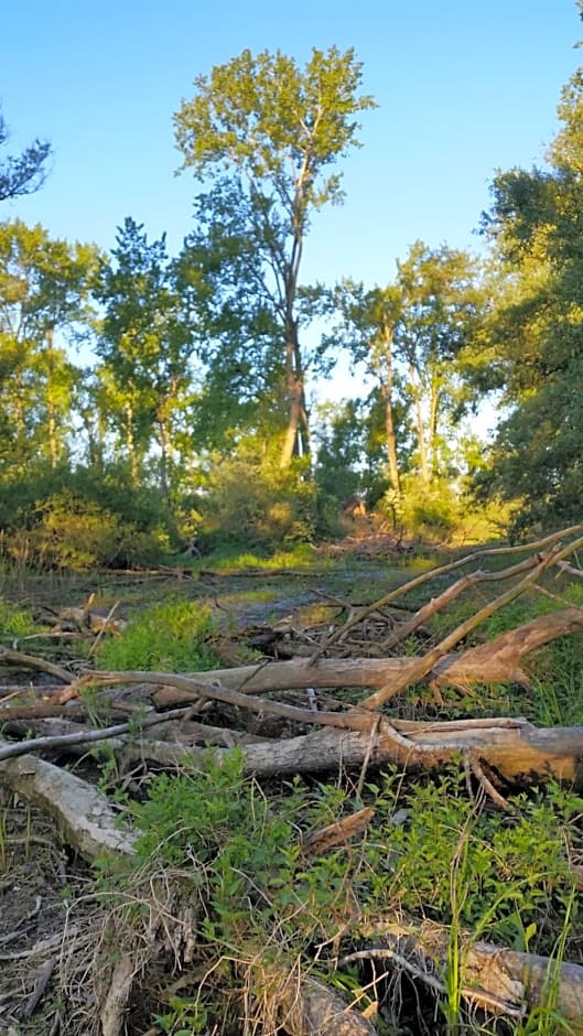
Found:
[(210, 609), (190, 601), (155, 604), (128, 623), (120, 637), (102, 640), (96, 652), (101, 669), (153, 669), (165, 672), (215, 669), (215, 626)]

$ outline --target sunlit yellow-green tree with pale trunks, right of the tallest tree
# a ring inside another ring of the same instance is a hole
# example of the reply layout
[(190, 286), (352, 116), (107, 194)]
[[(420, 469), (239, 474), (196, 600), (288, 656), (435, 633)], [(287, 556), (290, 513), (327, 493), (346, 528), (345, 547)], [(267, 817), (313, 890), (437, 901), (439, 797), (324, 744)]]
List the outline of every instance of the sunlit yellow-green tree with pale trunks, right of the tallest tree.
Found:
[(451, 418), (462, 409), (460, 357), (476, 333), (479, 310), (473, 261), (466, 252), (415, 241), (392, 283), (366, 290), (345, 281), (335, 304), (339, 336), (382, 402), (393, 492), (400, 492), (398, 440), (406, 428), (407, 436), (413, 431), (419, 476), (429, 483), (441, 474)]

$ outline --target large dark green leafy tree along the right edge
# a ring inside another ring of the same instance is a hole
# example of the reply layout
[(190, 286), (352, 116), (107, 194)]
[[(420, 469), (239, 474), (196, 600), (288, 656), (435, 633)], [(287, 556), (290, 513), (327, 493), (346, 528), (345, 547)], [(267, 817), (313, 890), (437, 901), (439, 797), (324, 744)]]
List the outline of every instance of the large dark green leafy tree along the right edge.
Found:
[(548, 165), (499, 174), (484, 230), (504, 271), (486, 387), (505, 418), (482, 475), (514, 525), (579, 520), (583, 494), (583, 69), (563, 90)]

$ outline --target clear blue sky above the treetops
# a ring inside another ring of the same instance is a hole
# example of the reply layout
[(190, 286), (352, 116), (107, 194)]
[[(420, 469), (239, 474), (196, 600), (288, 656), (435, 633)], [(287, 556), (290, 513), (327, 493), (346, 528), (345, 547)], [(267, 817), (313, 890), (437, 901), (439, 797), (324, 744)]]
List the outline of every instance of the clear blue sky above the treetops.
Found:
[(12, 150), (41, 136), (55, 158), (43, 191), (0, 217), (109, 248), (131, 215), (177, 250), (194, 182), (173, 175), (172, 115), (194, 77), (244, 47), (303, 62), (312, 46), (354, 45), (380, 108), (365, 114), (364, 148), (345, 163), (345, 206), (314, 223), (304, 276), (386, 283), (415, 238), (477, 245), (494, 170), (540, 160), (557, 130), (580, 36), (574, 0), (4, 3)]

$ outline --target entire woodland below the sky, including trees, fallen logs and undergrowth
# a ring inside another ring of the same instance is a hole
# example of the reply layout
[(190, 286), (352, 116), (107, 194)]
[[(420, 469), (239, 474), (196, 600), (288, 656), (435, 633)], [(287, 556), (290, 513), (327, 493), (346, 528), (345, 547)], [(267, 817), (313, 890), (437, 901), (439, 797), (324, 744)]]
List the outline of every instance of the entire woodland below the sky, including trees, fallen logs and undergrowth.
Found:
[(583, 1033), (583, 68), (306, 283), (365, 85), (198, 75), (175, 255), (0, 222), (0, 1034)]

